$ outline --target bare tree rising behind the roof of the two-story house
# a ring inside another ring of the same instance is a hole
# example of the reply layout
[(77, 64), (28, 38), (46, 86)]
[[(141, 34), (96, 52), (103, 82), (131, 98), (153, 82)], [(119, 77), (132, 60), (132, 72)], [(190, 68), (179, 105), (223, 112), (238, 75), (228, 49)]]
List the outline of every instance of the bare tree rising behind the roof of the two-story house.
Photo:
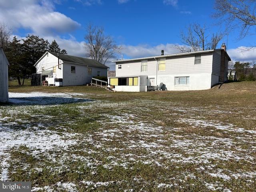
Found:
[(180, 52), (203, 51), (207, 49), (216, 49), (218, 43), (223, 38), (223, 33), (210, 34), (206, 33), (206, 26), (199, 24), (190, 24), (186, 27), (186, 32), (181, 32), (180, 38), (184, 45), (175, 45), (174, 48)]

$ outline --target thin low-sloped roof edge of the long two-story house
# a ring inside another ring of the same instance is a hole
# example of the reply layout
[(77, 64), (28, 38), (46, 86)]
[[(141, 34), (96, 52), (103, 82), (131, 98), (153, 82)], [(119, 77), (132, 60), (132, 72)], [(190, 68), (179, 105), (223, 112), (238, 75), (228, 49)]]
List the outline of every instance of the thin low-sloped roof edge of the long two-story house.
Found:
[[(174, 57), (174, 56), (182, 56), (182, 55), (194, 55), (194, 54), (214, 52), (216, 50), (222, 50), (222, 49), (212, 49), (212, 50), (206, 50), (206, 51), (195, 51), (195, 52), (188, 52), (188, 53), (176, 53), (176, 54), (168, 54), (168, 55), (160, 55), (160, 56), (134, 58), (134, 59), (115, 60), (115, 61), (112, 61), (112, 62), (116, 62), (117, 63), (117, 62), (125, 62), (125, 61), (136, 61), (136, 60), (164, 58), (164, 57)], [(226, 56), (228, 56), (227, 53), (226, 53)], [(231, 60), (229, 56), (228, 56), (228, 59)]]

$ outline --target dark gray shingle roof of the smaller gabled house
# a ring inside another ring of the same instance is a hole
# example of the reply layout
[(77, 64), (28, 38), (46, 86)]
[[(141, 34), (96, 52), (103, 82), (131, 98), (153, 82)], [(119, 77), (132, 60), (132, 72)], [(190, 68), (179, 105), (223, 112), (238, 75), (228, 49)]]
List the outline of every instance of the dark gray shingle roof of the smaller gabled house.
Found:
[[(58, 57), (57, 53), (54, 53), (54, 52), (49, 52), (49, 53), (53, 54), (56, 57)], [(94, 67), (109, 68), (108, 66), (103, 65), (100, 62), (98, 62), (96, 60), (93, 60), (93, 59), (77, 57), (77, 56), (61, 54), (61, 53), (59, 54), (59, 58), (63, 62), (72, 62), (72, 63), (84, 64), (84, 65), (89, 65), (89, 66), (94, 66)]]

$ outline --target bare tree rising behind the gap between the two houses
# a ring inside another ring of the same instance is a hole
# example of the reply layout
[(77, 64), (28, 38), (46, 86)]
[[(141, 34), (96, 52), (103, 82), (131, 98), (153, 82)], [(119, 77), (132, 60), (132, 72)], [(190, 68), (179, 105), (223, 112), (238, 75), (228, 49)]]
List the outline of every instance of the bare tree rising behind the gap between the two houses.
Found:
[(103, 27), (88, 24), (86, 32), (84, 48), (87, 56), (92, 59), (105, 64), (122, 50), (122, 47), (117, 46), (111, 36), (104, 35)]

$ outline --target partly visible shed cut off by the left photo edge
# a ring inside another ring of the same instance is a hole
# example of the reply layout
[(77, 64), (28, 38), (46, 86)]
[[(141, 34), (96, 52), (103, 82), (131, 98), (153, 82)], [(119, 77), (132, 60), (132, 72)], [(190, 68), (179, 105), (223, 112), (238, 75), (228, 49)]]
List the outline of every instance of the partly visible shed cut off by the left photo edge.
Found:
[(4, 50), (0, 48), (0, 103), (8, 102), (8, 66)]

